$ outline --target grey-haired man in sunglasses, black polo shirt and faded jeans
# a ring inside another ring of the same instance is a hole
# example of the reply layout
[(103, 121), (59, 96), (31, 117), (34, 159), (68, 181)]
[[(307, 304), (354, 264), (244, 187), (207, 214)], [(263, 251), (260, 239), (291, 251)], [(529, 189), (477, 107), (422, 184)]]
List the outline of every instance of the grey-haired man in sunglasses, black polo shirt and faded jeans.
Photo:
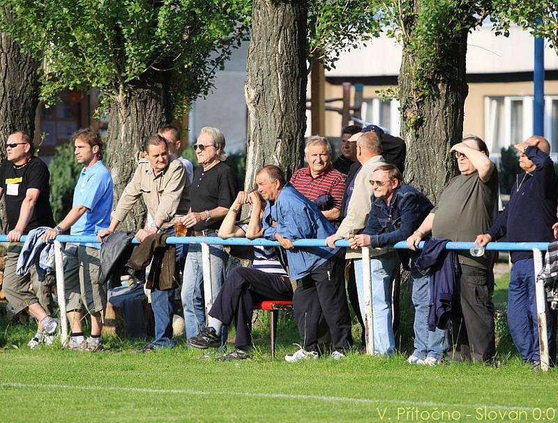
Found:
[[(219, 229), (229, 212), (236, 199), (238, 185), (234, 171), (224, 163), (227, 155), (223, 132), (217, 128), (202, 128), (193, 148), (199, 167), (194, 171), (190, 187), (190, 213), (183, 217), (182, 222), (193, 229), (193, 236), (209, 236)], [(225, 281), (227, 254), (223, 245), (211, 245), (209, 253), (213, 301)], [(206, 325), (203, 286), (202, 247), (192, 244), (186, 256), (181, 291), (186, 339), (197, 335)], [(222, 335), (226, 341), (226, 331)]]

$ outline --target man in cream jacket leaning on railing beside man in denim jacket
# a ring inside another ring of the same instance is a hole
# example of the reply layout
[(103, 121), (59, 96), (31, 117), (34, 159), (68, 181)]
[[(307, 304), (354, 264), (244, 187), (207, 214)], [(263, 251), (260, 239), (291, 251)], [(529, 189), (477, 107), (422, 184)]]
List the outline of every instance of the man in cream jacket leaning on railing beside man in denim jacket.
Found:
[[(361, 169), (357, 171), (354, 180), (347, 180), (347, 187), (353, 184), (352, 192), (349, 190), (347, 195), (347, 215), (342, 220), (338, 230), (333, 235), (326, 238), (326, 243), (329, 247), (335, 247), (335, 241), (340, 239), (348, 239), (352, 234), (360, 233), (368, 222), (368, 213), (370, 213), (370, 197), (372, 197), (372, 172), (380, 165), (386, 164), (384, 157), (382, 157), (382, 144), (379, 137), (374, 131), (365, 132), (353, 135), (349, 141), (356, 139), (356, 160), (362, 165)], [(370, 256), (378, 256), (385, 254), (386, 249), (372, 249)], [(353, 259), (355, 265), (355, 278), (356, 285), (359, 287), (359, 302), (363, 302), (361, 298), (363, 289), (362, 281), (362, 251), (361, 249), (347, 249), (345, 259)], [(364, 318), (364, 316), (363, 316)], [(375, 334), (378, 331), (375, 331)], [(375, 346), (380, 346), (381, 343), (376, 339)], [(378, 351), (379, 353), (386, 353), (387, 351)]]

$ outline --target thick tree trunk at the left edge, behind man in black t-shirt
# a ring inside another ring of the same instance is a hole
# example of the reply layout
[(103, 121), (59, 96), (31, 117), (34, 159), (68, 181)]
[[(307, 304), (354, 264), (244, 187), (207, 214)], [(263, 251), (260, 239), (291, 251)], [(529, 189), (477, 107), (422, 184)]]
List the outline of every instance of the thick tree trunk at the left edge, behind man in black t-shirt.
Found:
[[(0, 33), (0, 155), (6, 157), (6, 139), (17, 131), (33, 138), (38, 104), (38, 63), (20, 50), (8, 36)], [(3, 201), (0, 206), (0, 232), (8, 222)]]

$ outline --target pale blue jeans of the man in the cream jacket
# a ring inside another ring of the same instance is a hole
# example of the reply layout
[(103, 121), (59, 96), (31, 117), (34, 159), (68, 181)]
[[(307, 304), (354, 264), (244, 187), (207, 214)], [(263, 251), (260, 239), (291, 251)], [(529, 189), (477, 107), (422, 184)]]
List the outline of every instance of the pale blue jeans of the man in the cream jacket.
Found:
[[(361, 315), (364, 313), (364, 286), (362, 278), (362, 259), (354, 261), (356, 291), (359, 293)], [(372, 314), (374, 316), (374, 351), (381, 355), (393, 355), (395, 336), (391, 318), (391, 275), (399, 266), (396, 253), (384, 254), (370, 259), (372, 275)]]

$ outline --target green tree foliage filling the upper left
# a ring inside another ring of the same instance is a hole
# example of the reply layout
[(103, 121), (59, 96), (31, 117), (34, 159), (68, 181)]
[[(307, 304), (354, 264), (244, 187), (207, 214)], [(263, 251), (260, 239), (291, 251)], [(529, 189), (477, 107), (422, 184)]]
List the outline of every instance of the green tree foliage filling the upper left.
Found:
[(180, 111), (248, 31), (249, 0), (0, 0), (7, 31), (44, 54), (42, 97), (95, 87), (105, 99), (162, 74)]

